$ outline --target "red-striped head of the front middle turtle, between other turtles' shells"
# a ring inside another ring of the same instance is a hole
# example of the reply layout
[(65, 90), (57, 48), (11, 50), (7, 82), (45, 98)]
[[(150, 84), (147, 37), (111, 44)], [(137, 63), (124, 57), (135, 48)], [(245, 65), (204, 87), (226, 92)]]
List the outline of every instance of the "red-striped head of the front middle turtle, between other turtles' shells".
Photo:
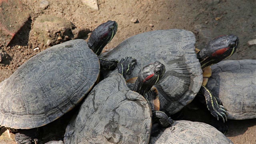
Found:
[(158, 61), (144, 66), (138, 73), (133, 90), (144, 96), (154, 84), (159, 82), (164, 73), (165, 66)]

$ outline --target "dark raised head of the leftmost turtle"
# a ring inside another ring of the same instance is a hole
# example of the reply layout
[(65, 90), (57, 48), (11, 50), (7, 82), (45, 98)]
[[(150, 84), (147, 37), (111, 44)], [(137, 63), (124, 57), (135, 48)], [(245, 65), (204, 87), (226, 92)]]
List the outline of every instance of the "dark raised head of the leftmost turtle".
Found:
[(92, 31), (88, 40), (89, 48), (99, 56), (106, 44), (115, 36), (117, 28), (118, 24), (116, 21), (108, 20), (108, 22), (100, 24)]

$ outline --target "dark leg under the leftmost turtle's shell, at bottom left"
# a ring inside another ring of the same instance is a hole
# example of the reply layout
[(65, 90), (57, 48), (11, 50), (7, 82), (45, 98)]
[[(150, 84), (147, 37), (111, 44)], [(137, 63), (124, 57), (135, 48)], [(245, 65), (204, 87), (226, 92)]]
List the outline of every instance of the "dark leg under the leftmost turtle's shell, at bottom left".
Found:
[(29, 130), (18, 130), (15, 134), (15, 141), (17, 144), (36, 144), (38, 139), (38, 128)]

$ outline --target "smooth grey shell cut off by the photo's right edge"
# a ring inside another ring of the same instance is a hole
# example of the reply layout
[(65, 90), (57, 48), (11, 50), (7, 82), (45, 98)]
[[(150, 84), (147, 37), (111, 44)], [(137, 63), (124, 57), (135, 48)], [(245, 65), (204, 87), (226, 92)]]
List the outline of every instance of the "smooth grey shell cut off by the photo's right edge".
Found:
[(256, 118), (256, 60), (225, 60), (212, 66), (206, 85), (227, 110), (227, 118)]

